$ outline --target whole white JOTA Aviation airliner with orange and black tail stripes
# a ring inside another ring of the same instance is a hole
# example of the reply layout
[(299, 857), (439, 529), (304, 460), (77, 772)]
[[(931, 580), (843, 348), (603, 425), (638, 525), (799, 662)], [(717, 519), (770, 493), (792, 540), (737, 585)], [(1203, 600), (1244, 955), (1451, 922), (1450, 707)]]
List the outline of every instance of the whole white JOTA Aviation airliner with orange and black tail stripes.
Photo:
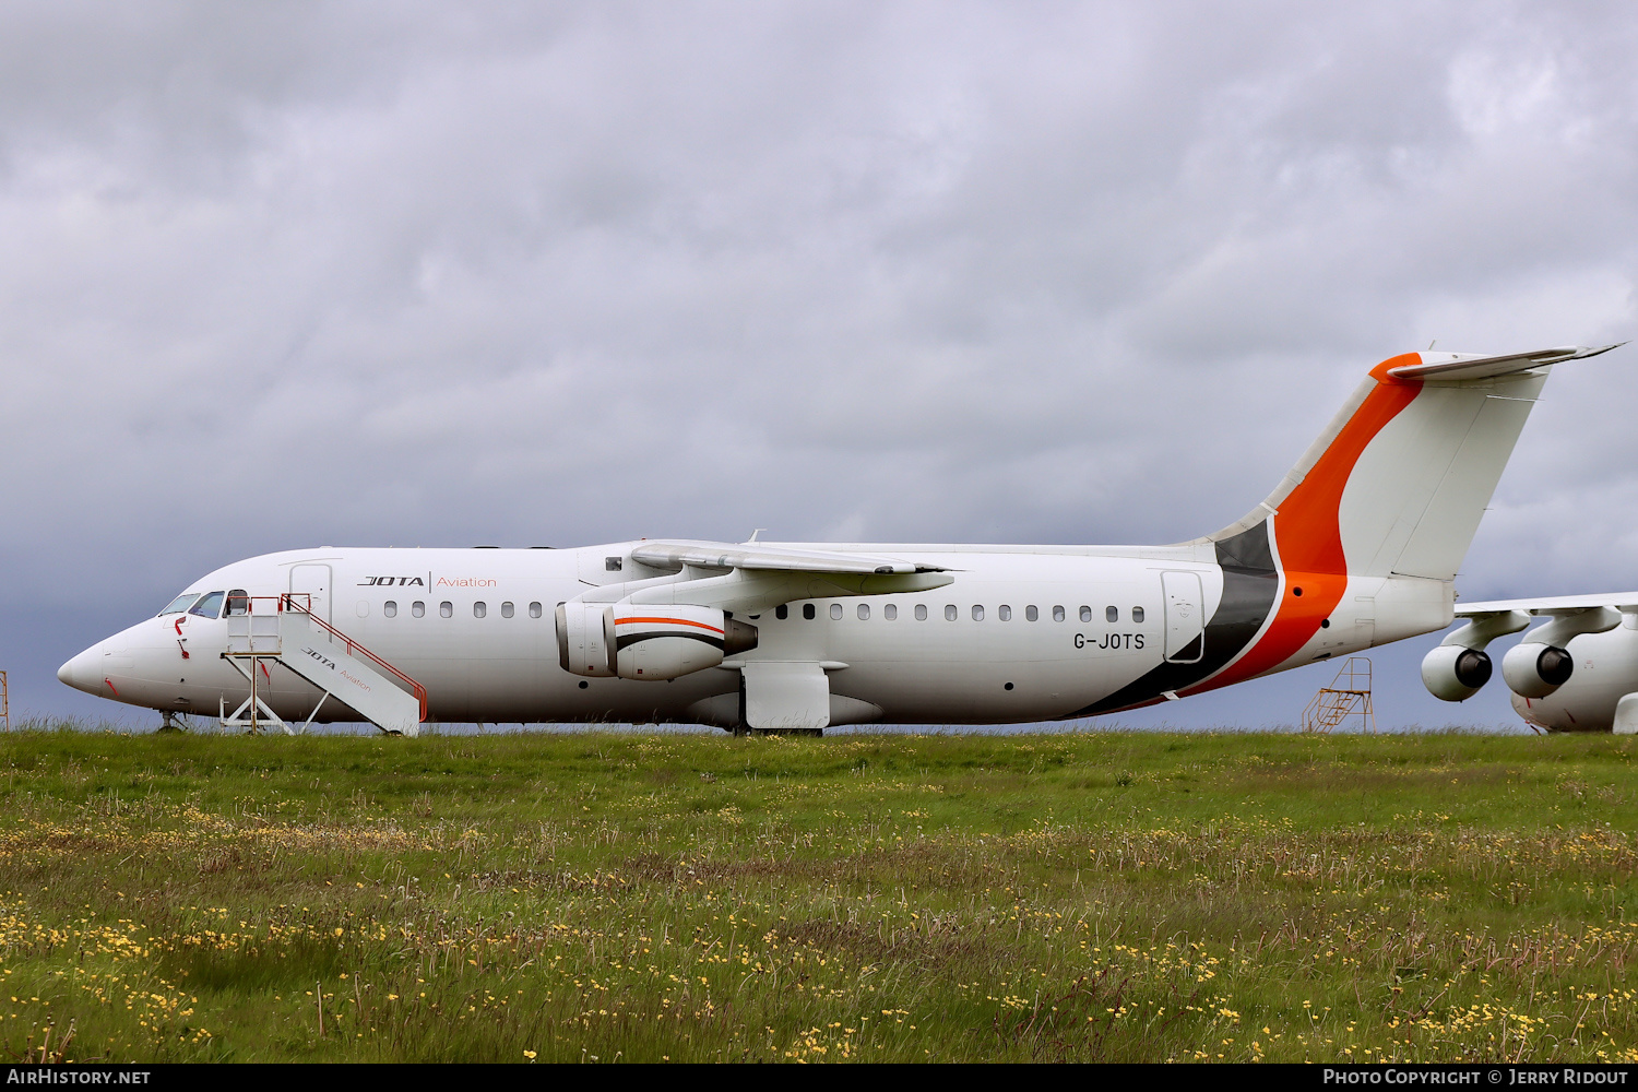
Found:
[(288, 550), (197, 580), (57, 676), (252, 730), (1133, 709), (1446, 627), (1548, 370), (1607, 349), (1384, 360), (1266, 501), (1176, 545)]

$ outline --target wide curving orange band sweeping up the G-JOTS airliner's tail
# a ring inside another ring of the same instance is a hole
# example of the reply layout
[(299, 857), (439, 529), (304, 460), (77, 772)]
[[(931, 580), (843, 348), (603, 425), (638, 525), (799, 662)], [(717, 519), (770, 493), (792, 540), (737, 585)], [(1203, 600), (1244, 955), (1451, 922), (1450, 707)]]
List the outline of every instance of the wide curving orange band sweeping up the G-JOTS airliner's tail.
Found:
[[(1253, 678), (1289, 660), (1320, 630), (1320, 622), (1337, 609), (1348, 589), (1348, 558), (1343, 553), (1338, 509), (1360, 455), (1371, 440), (1422, 393), (1420, 380), (1396, 380), (1387, 372), (1419, 363), (1419, 354), (1382, 360), (1371, 368), (1376, 388), (1348, 417), (1325, 453), (1281, 503), (1274, 516), (1274, 547), (1284, 575), (1274, 620), (1238, 663), (1184, 694), (1217, 689)], [(1294, 591), (1301, 588), (1302, 594)]]

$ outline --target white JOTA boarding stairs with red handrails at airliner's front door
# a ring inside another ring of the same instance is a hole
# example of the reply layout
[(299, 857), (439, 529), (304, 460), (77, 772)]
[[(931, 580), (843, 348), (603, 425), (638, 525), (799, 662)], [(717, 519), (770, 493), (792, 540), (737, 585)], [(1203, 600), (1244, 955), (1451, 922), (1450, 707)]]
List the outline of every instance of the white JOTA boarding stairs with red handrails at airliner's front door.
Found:
[[(426, 720), (426, 688), (357, 643), (311, 611), (303, 594), (251, 596), (242, 612), (228, 616), (228, 650), (223, 660), (251, 683), (251, 696), (233, 714), (219, 711), (223, 727), (251, 732), (282, 729), (306, 732), (331, 697), (388, 735), (418, 735)], [(282, 663), (323, 691), (300, 727), (285, 724), (262, 699), (272, 684), (265, 661)]]

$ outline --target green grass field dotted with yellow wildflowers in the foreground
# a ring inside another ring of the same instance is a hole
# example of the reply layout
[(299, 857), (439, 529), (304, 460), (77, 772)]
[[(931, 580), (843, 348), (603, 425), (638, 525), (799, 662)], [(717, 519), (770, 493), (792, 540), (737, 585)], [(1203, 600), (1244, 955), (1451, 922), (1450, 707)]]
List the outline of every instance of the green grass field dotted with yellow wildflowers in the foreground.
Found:
[(0, 1049), (1638, 1058), (1631, 738), (0, 737)]

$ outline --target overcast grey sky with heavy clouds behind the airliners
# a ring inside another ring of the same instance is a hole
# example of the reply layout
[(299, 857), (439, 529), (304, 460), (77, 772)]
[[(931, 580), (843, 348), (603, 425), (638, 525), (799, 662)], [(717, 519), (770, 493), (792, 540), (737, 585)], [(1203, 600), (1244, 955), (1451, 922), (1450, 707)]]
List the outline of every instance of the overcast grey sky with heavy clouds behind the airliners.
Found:
[[(1625, 3), (7, 3), (13, 714), (147, 724), (56, 665), (290, 547), (1214, 530), (1384, 357), (1635, 334), (1635, 56)], [(1638, 586), (1635, 421), (1638, 345), (1556, 372), (1464, 596)], [(1386, 722), (1515, 720), (1432, 643)]]

